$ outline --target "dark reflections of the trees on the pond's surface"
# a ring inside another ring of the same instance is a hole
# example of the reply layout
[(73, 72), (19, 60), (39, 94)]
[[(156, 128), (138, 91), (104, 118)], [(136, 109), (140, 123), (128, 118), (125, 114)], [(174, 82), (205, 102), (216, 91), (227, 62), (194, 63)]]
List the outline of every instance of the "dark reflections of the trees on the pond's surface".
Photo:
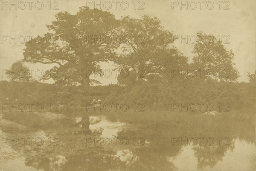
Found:
[[(240, 139), (255, 145), (255, 131), (251, 131), (253, 120), (225, 122), (203, 122), (203, 120), (180, 119), (175, 122), (131, 123), (124, 118), (111, 118), (126, 123), (116, 137), (143, 137), (144, 141), (134, 145), (100, 145), (86, 144), (86, 137), (100, 140), (102, 131), (90, 131), (89, 117), (82, 117), (82, 127), (58, 128), (44, 130), (47, 137), (58, 137), (58, 146), (25, 145), (12, 146), (15, 151), (22, 151), (26, 157), (25, 164), (38, 170), (177, 170), (169, 160), (177, 157), (185, 143), (172, 144), (172, 137), (212, 137), (213, 145), (203, 143), (192, 149), (198, 161), (198, 169), (214, 167), (225, 156), (227, 150), (233, 151), (234, 140)], [(238, 127), (237, 124), (240, 124)], [(106, 128), (102, 128), (108, 129)], [(248, 131), (250, 130), (250, 131)], [(5, 136), (13, 137), (8, 132)], [(18, 133), (17, 137), (37, 136), (35, 131)], [(222, 137), (221, 145), (218, 138)], [(229, 145), (224, 146), (224, 137), (229, 137)]]

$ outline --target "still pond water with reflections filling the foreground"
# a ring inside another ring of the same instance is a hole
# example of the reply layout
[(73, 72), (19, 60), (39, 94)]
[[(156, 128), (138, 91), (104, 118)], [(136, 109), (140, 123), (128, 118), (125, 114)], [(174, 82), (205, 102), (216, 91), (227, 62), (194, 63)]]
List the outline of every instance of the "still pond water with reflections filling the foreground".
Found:
[[(192, 131), (191, 127), (133, 123), (107, 116), (73, 118), (74, 123), (84, 119), (87, 128), (1, 131), (1, 170), (15, 170), (17, 165), (19, 170), (241, 171), (256, 167), (251, 134), (232, 133), (226, 127), (227, 133), (218, 134), (224, 127)], [(6, 137), (14, 141), (9, 144)], [(17, 143), (15, 137), (23, 139)]]

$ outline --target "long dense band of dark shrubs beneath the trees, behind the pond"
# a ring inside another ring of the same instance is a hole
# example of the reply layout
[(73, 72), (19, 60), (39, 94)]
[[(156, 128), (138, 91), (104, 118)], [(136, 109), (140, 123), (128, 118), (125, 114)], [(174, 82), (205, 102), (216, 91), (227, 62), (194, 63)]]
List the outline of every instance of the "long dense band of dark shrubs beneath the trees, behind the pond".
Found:
[[(256, 85), (215, 80), (184, 80), (180, 84), (144, 82), (126, 88), (120, 85), (55, 86), (46, 83), (0, 82), (1, 103), (42, 103), (86, 106), (93, 99), (102, 103), (143, 103), (145, 108), (170, 108), (172, 103), (229, 103), (233, 110), (255, 111)], [(9, 98), (9, 100), (6, 100)], [(16, 101), (15, 101), (16, 100)]]

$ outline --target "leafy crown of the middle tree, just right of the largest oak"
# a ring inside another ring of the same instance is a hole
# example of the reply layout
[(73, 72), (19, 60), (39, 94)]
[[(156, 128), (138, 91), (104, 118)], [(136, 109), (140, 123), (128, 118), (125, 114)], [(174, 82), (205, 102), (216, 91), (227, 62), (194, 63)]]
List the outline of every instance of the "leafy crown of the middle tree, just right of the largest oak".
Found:
[(172, 32), (165, 30), (159, 19), (149, 15), (140, 19), (123, 17), (121, 26), (122, 34), (127, 35), (122, 46), (125, 53), (117, 60), (121, 68), (135, 72), (135, 79), (148, 79), (152, 74), (162, 73), (164, 60), (174, 52), (171, 50)]

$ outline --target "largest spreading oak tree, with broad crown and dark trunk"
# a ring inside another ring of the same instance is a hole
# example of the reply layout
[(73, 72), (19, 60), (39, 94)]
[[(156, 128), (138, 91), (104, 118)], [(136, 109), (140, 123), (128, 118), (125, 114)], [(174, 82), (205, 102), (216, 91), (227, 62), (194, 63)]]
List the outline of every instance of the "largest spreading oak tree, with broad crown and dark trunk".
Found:
[[(118, 42), (109, 41), (116, 34), (119, 21), (107, 11), (80, 7), (77, 14), (60, 12), (47, 25), (43, 38), (26, 42), (24, 61), (57, 64), (50, 69), (56, 84), (83, 85), (87, 88), (93, 72), (100, 72), (99, 62), (113, 60)], [(103, 38), (103, 39), (102, 39)], [(54, 75), (54, 74), (52, 74)], [(49, 74), (44, 80), (49, 79)]]

